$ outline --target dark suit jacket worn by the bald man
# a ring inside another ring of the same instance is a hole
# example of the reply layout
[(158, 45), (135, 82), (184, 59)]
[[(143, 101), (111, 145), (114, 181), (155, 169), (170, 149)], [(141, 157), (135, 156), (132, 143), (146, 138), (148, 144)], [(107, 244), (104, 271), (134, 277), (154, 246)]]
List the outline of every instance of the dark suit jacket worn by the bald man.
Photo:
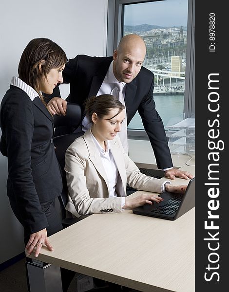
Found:
[[(85, 99), (97, 94), (112, 60), (113, 57), (87, 55), (77, 55), (74, 59), (69, 59), (63, 71), (64, 83), (70, 83), (67, 101), (78, 103), (84, 111)], [(169, 168), (172, 167), (172, 159), (162, 120), (155, 109), (153, 84), (153, 73), (144, 67), (134, 80), (127, 84), (125, 93), (127, 124), (138, 110), (150, 138), (158, 168)], [(58, 87), (49, 99), (55, 96), (60, 97)]]

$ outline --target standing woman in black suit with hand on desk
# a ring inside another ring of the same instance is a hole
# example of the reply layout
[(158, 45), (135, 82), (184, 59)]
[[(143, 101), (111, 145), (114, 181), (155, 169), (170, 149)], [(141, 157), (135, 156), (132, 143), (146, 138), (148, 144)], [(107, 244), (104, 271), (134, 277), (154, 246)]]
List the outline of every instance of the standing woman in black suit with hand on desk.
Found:
[(0, 107), (0, 151), (8, 157), (7, 195), (24, 227), (25, 248), (35, 256), (48, 236), (63, 229), (55, 210), (62, 191), (59, 164), (53, 144), (54, 121), (42, 92), (51, 94), (62, 83), (67, 57), (47, 38), (32, 39)]

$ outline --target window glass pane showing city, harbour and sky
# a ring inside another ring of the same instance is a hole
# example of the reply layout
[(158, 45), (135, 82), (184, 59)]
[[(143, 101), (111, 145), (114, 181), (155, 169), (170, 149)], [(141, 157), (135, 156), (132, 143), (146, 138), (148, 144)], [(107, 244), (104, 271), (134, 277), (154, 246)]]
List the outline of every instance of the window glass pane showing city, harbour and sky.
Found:
[[(183, 113), (188, 0), (162, 0), (124, 5), (123, 36), (143, 37), (143, 66), (154, 73), (153, 97), (164, 126)], [(129, 129), (144, 129), (138, 113)]]

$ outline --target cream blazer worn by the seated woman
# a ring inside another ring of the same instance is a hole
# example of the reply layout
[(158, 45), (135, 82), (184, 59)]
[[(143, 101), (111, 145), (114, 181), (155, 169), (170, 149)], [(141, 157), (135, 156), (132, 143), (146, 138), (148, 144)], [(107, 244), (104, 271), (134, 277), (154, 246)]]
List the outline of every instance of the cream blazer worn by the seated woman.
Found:
[(72, 215), (121, 212), (121, 197), (126, 196), (126, 183), (143, 191), (161, 193), (165, 180), (142, 174), (124, 151), (118, 135), (109, 141), (119, 176), (116, 184), (118, 197), (109, 198), (109, 184), (99, 151), (87, 130), (67, 149), (65, 171), (68, 185), (66, 210)]

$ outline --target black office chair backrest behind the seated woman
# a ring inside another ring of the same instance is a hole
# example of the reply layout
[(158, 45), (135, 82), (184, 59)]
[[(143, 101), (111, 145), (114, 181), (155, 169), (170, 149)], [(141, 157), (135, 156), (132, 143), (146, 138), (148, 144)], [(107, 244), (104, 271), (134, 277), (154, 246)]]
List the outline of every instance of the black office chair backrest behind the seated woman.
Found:
[(64, 164), (65, 164), (65, 152), (67, 148), (74, 142), (74, 140), (81, 135), (83, 135), (83, 132), (77, 132), (73, 133), (73, 128), (78, 128), (81, 122), (81, 108), (77, 104), (68, 103), (67, 104), (67, 112), (65, 116), (54, 116), (54, 127), (55, 127), (55, 133), (56, 131), (61, 128), (60, 132), (64, 133), (61, 135), (54, 135), (54, 146), (56, 147), (56, 155), (57, 160), (59, 162), (61, 171), (62, 171), (62, 182), (63, 182), (63, 190), (61, 195), (58, 197), (60, 201), (60, 206), (62, 209), (62, 216), (65, 218), (65, 206), (67, 204), (68, 200), (68, 187), (66, 182), (66, 175), (64, 170)]

